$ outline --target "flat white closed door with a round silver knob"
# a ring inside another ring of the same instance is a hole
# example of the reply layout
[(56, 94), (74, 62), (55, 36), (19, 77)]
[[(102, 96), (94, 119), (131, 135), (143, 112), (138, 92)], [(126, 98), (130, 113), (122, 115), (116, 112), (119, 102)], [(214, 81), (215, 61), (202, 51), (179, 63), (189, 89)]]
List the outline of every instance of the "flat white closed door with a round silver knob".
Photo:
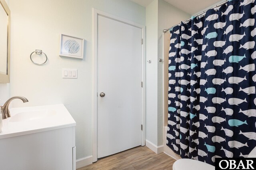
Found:
[(141, 39), (141, 28), (98, 16), (98, 158), (142, 144)]

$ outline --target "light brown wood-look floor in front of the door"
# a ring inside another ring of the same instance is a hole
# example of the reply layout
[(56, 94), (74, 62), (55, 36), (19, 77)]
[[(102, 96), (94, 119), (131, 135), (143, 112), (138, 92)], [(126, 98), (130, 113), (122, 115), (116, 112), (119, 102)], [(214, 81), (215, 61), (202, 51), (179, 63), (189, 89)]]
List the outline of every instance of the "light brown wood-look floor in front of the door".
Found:
[(173, 158), (164, 153), (156, 154), (146, 146), (139, 146), (77, 170), (172, 170), (174, 162)]

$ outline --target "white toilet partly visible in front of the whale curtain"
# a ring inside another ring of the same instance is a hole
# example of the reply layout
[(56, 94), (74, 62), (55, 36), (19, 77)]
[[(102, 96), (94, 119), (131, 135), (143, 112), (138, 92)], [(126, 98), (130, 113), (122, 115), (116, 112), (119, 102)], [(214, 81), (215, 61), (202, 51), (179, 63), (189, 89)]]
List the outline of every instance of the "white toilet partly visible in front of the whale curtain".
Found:
[[(256, 147), (250, 152), (247, 158), (256, 158)], [(172, 170), (215, 170), (215, 167), (193, 159), (179, 159), (172, 165)]]

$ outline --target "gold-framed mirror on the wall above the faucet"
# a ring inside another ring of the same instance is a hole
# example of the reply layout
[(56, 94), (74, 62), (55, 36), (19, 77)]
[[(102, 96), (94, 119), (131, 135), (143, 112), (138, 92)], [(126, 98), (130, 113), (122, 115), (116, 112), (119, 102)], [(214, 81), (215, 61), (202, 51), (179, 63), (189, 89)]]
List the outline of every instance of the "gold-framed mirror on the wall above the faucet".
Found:
[(0, 0), (0, 83), (10, 82), (10, 9)]

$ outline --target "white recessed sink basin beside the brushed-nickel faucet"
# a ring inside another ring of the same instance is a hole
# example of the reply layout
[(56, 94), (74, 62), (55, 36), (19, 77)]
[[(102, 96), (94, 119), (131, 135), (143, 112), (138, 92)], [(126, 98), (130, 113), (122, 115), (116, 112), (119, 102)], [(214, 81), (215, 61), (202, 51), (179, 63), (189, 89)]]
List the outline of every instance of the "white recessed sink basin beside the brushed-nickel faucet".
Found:
[(49, 118), (51, 116), (56, 115), (56, 110), (34, 110), (34, 111), (27, 111), (27, 112), (20, 112), (11, 116), (9, 118), (9, 122), (24, 122), (24, 121), (31, 121), (31, 120), (38, 120)]

